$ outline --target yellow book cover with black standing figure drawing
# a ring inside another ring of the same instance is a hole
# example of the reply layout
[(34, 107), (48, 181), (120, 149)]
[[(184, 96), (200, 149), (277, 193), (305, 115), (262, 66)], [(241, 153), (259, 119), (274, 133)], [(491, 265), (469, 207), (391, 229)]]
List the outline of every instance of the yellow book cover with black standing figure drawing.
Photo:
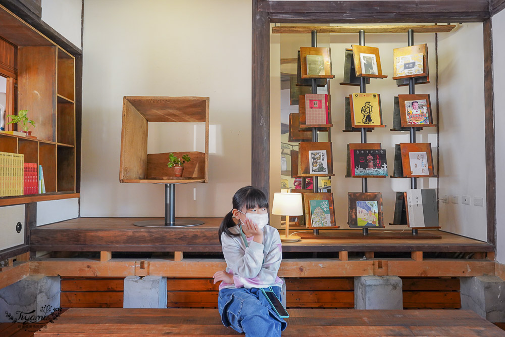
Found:
[(380, 94), (352, 93), (350, 95), (353, 127), (373, 127), (382, 125)]

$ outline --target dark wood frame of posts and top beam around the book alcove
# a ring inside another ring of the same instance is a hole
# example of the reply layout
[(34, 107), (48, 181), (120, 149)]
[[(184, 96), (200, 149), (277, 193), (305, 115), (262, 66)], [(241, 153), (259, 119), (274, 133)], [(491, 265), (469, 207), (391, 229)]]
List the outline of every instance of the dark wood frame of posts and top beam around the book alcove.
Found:
[(270, 189), (270, 24), (433, 23), (484, 24), (484, 119), (487, 242), (496, 247), (496, 166), (492, 15), (504, 0), (252, 1), (251, 183)]

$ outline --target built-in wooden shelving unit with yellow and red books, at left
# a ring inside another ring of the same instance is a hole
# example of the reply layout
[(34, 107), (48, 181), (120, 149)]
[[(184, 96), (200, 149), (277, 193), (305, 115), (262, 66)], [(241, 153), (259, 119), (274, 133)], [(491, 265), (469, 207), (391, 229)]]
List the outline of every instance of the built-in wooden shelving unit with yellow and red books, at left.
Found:
[[(75, 58), (0, 7), (0, 37), (17, 47), (17, 107), (28, 110), (36, 138), (0, 134), (0, 151), (43, 168), (46, 194), (3, 197), (0, 206), (78, 198), (76, 193)], [(2, 71), (0, 71), (2, 73)], [(14, 127), (16, 130), (16, 127)]]

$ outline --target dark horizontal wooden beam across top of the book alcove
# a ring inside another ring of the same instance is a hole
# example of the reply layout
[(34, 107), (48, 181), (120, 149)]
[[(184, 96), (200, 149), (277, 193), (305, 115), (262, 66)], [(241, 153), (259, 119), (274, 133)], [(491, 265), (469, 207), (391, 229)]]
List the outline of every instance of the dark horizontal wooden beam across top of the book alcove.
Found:
[(483, 22), (491, 16), (489, 0), (258, 0), (257, 8), (272, 23)]

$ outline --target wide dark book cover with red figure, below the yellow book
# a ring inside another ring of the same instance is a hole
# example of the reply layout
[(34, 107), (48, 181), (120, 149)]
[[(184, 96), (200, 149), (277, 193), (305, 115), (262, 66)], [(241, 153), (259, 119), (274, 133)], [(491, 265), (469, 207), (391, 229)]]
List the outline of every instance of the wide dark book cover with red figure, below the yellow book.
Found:
[(353, 150), (352, 176), (387, 176), (386, 150)]

